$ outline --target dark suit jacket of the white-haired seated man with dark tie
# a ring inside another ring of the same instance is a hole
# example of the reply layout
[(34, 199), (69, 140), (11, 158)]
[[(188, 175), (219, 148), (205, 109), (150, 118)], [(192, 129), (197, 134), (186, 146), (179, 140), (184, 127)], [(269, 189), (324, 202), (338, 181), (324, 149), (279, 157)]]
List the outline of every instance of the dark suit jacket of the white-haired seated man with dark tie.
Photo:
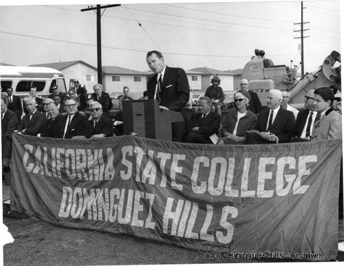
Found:
[[(270, 109), (261, 111), (258, 115), (257, 131), (266, 131)], [(279, 143), (289, 142), (294, 131), (295, 118), (291, 111), (279, 108), (270, 132), (279, 138)]]

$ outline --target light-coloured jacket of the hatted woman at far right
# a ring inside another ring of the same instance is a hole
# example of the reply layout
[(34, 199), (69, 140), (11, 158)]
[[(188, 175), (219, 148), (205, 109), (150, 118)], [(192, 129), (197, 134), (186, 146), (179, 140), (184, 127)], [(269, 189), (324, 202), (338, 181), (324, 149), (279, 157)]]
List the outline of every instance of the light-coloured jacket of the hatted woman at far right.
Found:
[(342, 137), (342, 115), (328, 109), (319, 120), (314, 122), (312, 140), (340, 139)]

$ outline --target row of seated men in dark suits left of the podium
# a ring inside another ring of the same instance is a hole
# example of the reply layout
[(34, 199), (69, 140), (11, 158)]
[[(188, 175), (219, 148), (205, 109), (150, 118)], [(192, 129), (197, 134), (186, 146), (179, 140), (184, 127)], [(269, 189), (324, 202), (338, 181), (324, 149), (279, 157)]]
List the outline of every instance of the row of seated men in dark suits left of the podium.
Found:
[[(1, 99), (3, 120), (11, 120), (11, 129), (14, 132), (41, 137), (71, 139), (74, 137), (96, 138), (114, 135), (114, 122), (103, 115), (103, 107), (99, 102), (93, 101), (90, 103), (90, 116), (87, 118), (84, 113), (77, 111), (78, 100), (72, 96), (65, 98), (64, 108), (66, 115), (62, 115), (59, 112), (54, 101), (49, 101), (50, 99), (45, 100), (47, 101), (47, 103), (43, 104), (45, 112), (40, 112), (36, 108), (34, 98), (30, 96), (24, 98), (24, 104), (29, 113), (23, 117), (19, 124), (17, 119), (14, 121), (14, 118), (17, 118), (15, 113), (8, 110), (6, 102)], [(8, 121), (5, 122), (8, 124)], [(6, 131), (8, 130), (7, 125)]]

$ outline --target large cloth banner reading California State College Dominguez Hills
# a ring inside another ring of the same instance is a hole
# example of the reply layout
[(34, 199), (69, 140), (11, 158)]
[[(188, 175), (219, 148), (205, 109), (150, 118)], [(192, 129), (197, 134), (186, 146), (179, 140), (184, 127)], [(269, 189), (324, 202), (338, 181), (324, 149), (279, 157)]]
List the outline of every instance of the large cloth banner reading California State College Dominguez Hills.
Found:
[(341, 140), (215, 146), (14, 134), (11, 208), (212, 256), (327, 261), (338, 251), (341, 156)]

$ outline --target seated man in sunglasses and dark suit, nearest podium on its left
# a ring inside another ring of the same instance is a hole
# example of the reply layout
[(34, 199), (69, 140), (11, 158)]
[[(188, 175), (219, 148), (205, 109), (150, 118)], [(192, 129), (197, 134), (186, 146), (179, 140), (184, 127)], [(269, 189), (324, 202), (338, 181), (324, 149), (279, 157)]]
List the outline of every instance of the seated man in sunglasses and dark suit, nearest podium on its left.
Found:
[(87, 137), (91, 139), (112, 137), (114, 135), (112, 120), (103, 116), (102, 104), (92, 102), (89, 111), (91, 112), (92, 120), (87, 121)]

